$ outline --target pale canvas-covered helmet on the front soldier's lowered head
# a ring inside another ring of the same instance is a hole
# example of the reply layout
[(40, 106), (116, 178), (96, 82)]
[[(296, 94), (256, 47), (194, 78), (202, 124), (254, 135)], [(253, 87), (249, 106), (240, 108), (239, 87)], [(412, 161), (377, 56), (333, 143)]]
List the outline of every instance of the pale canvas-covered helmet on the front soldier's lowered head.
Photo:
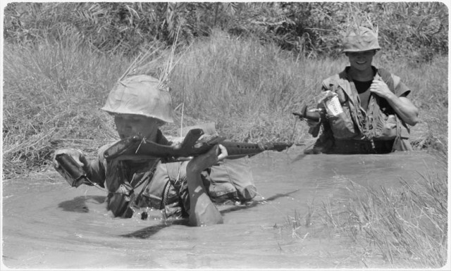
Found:
[(171, 94), (158, 85), (159, 80), (149, 75), (126, 77), (116, 83), (101, 109), (173, 122)]

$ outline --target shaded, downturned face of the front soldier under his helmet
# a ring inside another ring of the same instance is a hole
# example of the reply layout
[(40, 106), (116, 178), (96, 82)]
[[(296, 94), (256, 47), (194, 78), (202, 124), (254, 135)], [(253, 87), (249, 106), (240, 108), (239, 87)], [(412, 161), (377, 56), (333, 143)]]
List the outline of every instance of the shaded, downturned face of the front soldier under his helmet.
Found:
[(116, 114), (114, 123), (116, 123), (116, 131), (121, 139), (140, 134), (152, 141), (156, 139), (159, 127), (164, 124), (163, 121), (156, 118), (132, 114)]

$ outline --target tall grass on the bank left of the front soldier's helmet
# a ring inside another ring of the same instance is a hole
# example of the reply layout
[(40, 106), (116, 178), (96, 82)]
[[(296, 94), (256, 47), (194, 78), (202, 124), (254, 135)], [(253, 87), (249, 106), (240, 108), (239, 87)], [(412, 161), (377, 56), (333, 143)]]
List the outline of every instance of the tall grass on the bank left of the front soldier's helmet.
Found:
[(113, 130), (99, 108), (121, 58), (67, 40), (35, 48), (4, 46), (3, 161), (6, 177), (45, 165), (57, 147), (97, 149)]

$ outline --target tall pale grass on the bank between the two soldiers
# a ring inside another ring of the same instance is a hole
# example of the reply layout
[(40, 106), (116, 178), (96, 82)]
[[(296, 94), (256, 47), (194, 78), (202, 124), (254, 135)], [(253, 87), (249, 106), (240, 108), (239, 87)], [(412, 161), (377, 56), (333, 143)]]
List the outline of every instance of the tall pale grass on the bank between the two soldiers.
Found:
[(192, 46), (175, 68), (173, 97), (188, 115), (217, 122), (233, 139), (300, 141), (302, 125), (291, 138), (291, 112), (314, 101), (316, 71), (277, 46), (216, 33)]

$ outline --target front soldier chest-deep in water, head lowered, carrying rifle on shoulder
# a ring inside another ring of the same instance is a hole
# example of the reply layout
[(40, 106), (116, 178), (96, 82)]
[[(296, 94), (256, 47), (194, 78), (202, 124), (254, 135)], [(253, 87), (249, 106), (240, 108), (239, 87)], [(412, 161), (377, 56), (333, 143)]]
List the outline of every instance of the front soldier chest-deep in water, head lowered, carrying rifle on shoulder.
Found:
[[(114, 117), (121, 139), (140, 135), (147, 141), (171, 145), (159, 127), (173, 122), (171, 96), (158, 89), (159, 81), (135, 75), (118, 82), (102, 108)], [(82, 165), (91, 182), (108, 190), (107, 208), (114, 216), (130, 218), (137, 208), (149, 207), (173, 218), (188, 218), (193, 226), (223, 222), (214, 203), (250, 201), (257, 194), (247, 158), (227, 159), (219, 144), (209, 152), (183, 163), (158, 160), (106, 160), (102, 146), (98, 157), (88, 161), (75, 149), (59, 149)], [(219, 154), (220, 153), (220, 154)], [(54, 167), (61, 172), (54, 159)]]

